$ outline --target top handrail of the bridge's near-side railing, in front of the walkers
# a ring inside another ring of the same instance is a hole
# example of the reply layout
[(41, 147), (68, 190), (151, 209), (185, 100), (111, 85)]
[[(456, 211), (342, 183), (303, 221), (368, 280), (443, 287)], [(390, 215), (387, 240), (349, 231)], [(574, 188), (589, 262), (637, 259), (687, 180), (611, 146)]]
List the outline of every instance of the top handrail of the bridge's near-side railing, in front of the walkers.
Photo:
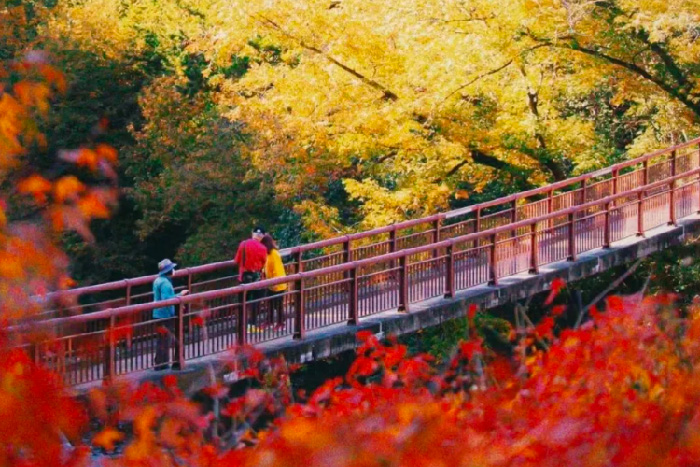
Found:
[(107, 309), (103, 311), (97, 311), (94, 313), (89, 313), (89, 314), (83, 314), (83, 315), (76, 315), (76, 316), (70, 316), (70, 317), (64, 317), (64, 318), (54, 318), (54, 319), (48, 319), (44, 321), (40, 321), (38, 323), (32, 323), (32, 324), (26, 324), (26, 325), (18, 325), (18, 326), (13, 326), (9, 328), (9, 330), (14, 330), (14, 331), (20, 331), (23, 329), (31, 329), (33, 326), (36, 326), (37, 324), (41, 325), (41, 327), (51, 327), (51, 326), (60, 326), (60, 325), (68, 325), (68, 324), (80, 324), (80, 323), (86, 323), (90, 321), (95, 321), (95, 320), (101, 320), (101, 319), (111, 319), (111, 318), (119, 318), (122, 316), (138, 313), (138, 312), (144, 312), (144, 311), (151, 311), (155, 308), (160, 308), (164, 306), (170, 306), (170, 305), (186, 305), (190, 303), (195, 303), (198, 300), (210, 300), (214, 298), (221, 298), (221, 297), (227, 297), (227, 296), (232, 296), (236, 294), (240, 294), (243, 292), (249, 292), (253, 290), (261, 290), (261, 289), (268, 289), (274, 285), (279, 285), (279, 284), (290, 284), (297, 282), (301, 279), (307, 279), (307, 278), (314, 278), (314, 277), (319, 277), (323, 275), (328, 275), (328, 274), (335, 274), (335, 273), (340, 273), (340, 272), (345, 272), (345, 271), (350, 271), (353, 269), (358, 269), (363, 266), (368, 266), (372, 264), (377, 264), (377, 263), (383, 263), (391, 260), (397, 260), (401, 259), (404, 257), (420, 254), (420, 253), (425, 253), (429, 251), (434, 251), (436, 249), (441, 249), (441, 248), (446, 248), (450, 246), (454, 246), (455, 244), (458, 243), (466, 243), (474, 240), (479, 240), (485, 237), (493, 237), (495, 235), (498, 235), (500, 233), (505, 233), (505, 232), (510, 232), (510, 231), (516, 231), (518, 229), (521, 229), (523, 227), (530, 227), (533, 224), (538, 224), (540, 222), (544, 222), (550, 219), (555, 219), (563, 216), (568, 216), (570, 214), (576, 214), (579, 212), (585, 212), (586, 210), (600, 206), (600, 205), (609, 205), (614, 203), (616, 200), (622, 199), (622, 198), (629, 198), (631, 195), (634, 194), (639, 194), (639, 193), (644, 193), (651, 191), (655, 188), (663, 187), (665, 185), (670, 185), (671, 183), (675, 183), (678, 180), (684, 179), (691, 177), (693, 175), (698, 175), (700, 174), (700, 168), (695, 168), (686, 172), (683, 172), (681, 174), (675, 175), (673, 177), (660, 180), (658, 182), (650, 183), (648, 185), (644, 185), (641, 187), (634, 188), (632, 190), (628, 190), (622, 193), (618, 193), (615, 195), (607, 196), (605, 198), (599, 199), (599, 200), (594, 200), (590, 201), (585, 204), (579, 204), (576, 206), (572, 206), (570, 208), (566, 208), (557, 212), (553, 212), (550, 214), (545, 214), (536, 218), (532, 219), (524, 219), (518, 222), (515, 222), (513, 224), (507, 224), (499, 227), (494, 227), (488, 230), (484, 230), (481, 232), (475, 232), (475, 233), (470, 233), (466, 235), (462, 235), (459, 237), (447, 239), (447, 240), (442, 240), (436, 243), (432, 243), (429, 245), (423, 245), (419, 247), (414, 247), (414, 248), (407, 248), (403, 249), (400, 251), (396, 251), (393, 253), (388, 253), (380, 256), (375, 256), (372, 258), (366, 258), (358, 261), (351, 261), (335, 266), (329, 266), (321, 269), (316, 269), (314, 271), (309, 271), (309, 272), (301, 272), (297, 274), (291, 274), (286, 277), (281, 277), (281, 278), (274, 278), (274, 279), (265, 279), (261, 280), (258, 282), (250, 283), (250, 284), (242, 284), (242, 285), (237, 285), (235, 287), (229, 287), (225, 289), (219, 289), (219, 290), (212, 290), (212, 291), (206, 291), (206, 292), (201, 292), (201, 293), (196, 293), (196, 294), (191, 294), (191, 295), (186, 295), (182, 297), (176, 297), (172, 298), (169, 300), (163, 300), (159, 302), (149, 302), (149, 303), (142, 303), (142, 304), (137, 304), (137, 305), (128, 305), (124, 307), (119, 307), (119, 308), (113, 308), (113, 309)]

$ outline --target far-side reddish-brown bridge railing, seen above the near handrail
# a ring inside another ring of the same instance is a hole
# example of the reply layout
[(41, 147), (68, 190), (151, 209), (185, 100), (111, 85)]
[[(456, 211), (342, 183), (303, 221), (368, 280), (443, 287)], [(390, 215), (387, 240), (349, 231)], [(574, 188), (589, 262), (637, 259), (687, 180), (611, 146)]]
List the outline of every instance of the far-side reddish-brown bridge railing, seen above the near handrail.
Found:
[[(682, 154), (679, 156), (679, 152), (687, 152), (698, 141), (700, 139), (486, 203), (284, 249), (282, 254), (287, 273), (313, 271), (428, 245), (523, 219), (537, 218), (663, 180), (675, 173), (674, 170), (682, 171), (692, 165), (692, 161)], [(41, 298), (47, 304), (43, 316), (71, 316), (150, 302), (153, 300), (151, 284), (155, 278), (156, 275), (148, 275), (50, 293)], [(188, 289), (191, 293), (232, 287), (238, 284), (236, 266), (233, 261), (221, 261), (179, 269), (175, 272), (175, 284), (177, 290)]]

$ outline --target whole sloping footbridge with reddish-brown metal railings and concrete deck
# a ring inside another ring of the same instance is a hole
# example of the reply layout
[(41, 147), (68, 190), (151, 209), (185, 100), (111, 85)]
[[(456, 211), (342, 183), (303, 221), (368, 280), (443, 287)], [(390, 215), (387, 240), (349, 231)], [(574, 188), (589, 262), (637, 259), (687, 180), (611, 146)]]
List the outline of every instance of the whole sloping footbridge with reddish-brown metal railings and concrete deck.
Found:
[[(16, 330), (50, 330), (23, 345), (75, 387), (148, 375), (165, 332), (183, 373), (246, 344), (305, 361), (352, 348), (358, 329), (394, 323), (388, 330), (410, 332), (463, 316), (469, 301), (493, 306), (544, 290), (553, 275), (583, 277), (665, 248), (700, 230), (698, 212), (700, 138), (516, 195), (283, 250), (285, 278), (240, 285), (224, 261), (176, 271), (176, 289), (190, 295), (157, 304), (156, 276), (49, 294), (41, 319)], [(272, 316), (270, 297), (251, 297), (281, 283), (283, 313)], [(175, 317), (151, 318), (167, 305)]]

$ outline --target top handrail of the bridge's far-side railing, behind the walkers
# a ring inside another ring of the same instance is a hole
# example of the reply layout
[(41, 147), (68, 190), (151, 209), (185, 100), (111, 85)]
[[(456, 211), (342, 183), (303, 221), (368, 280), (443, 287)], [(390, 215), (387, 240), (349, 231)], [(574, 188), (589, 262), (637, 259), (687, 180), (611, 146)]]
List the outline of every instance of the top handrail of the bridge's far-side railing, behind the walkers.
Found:
[[(590, 172), (587, 174), (583, 174), (574, 178), (570, 178), (567, 180), (562, 180), (559, 182), (555, 182), (549, 185), (545, 185), (543, 187), (535, 188), (532, 190), (516, 193), (513, 195), (509, 196), (504, 196), (501, 198), (497, 198), (492, 201), (487, 201), (471, 206), (466, 206), (464, 208), (458, 208), (454, 209), (445, 213), (439, 213), (439, 214), (434, 214), (431, 216), (426, 216), (423, 218), (419, 219), (411, 219), (403, 222), (398, 222), (395, 224), (391, 224), (388, 226), (384, 227), (379, 227), (376, 229), (372, 230), (367, 230), (364, 232), (357, 232), (353, 234), (346, 234), (346, 235), (340, 235), (337, 237), (333, 237), (330, 239), (325, 239), (325, 240), (320, 240), (317, 242), (312, 242), (312, 243), (307, 243), (304, 245), (298, 245), (294, 246), (291, 248), (285, 248), (280, 250), (280, 253), (284, 257), (290, 257), (290, 256), (295, 256), (295, 255), (300, 255), (303, 252), (306, 251), (312, 251), (312, 250), (318, 250), (322, 248), (327, 248), (330, 246), (338, 245), (338, 244), (343, 244), (347, 242), (352, 242), (352, 241), (357, 241), (361, 240), (364, 238), (368, 238), (374, 235), (380, 235), (384, 233), (391, 233), (391, 232), (396, 232), (399, 230), (404, 230), (404, 229), (409, 229), (411, 227), (425, 224), (425, 223), (431, 223), (431, 222), (439, 222), (443, 221), (445, 219), (452, 219), (455, 217), (467, 215), (473, 212), (479, 212), (481, 210), (484, 210), (489, 207), (493, 206), (498, 206), (498, 205), (503, 205), (507, 203), (513, 203), (517, 202), (518, 200), (521, 199), (526, 199), (532, 196), (537, 196), (541, 194), (548, 194), (552, 193), (554, 190), (558, 190), (561, 188), (565, 188), (568, 186), (575, 185), (577, 183), (585, 182), (587, 180), (593, 179), (593, 178), (598, 178), (598, 177), (603, 177), (606, 175), (610, 174), (615, 174), (616, 172), (619, 172), (620, 170), (634, 166), (640, 163), (644, 163), (646, 161), (649, 161), (653, 158), (673, 153), (674, 151), (678, 151), (681, 149), (685, 149), (687, 147), (691, 147), (693, 145), (700, 144), (700, 138), (695, 138), (693, 140), (687, 141), (685, 143), (681, 143), (678, 145), (675, 145), (670, 148), (664, 148), (660, 149), (657, 151), (654, 151), (652, 153), (637, 157), (635, 159), (631, 159), (629, 161), (623, 161), (617, 164), (614, 164), (612, 166), (596, 170), (594, 172)], [(561, 212), (561, 211), (557, 211)], [(205, 274), (205, 273), (210, 273), (210, 272), (215, 272), (221, 269), (225, 268), (233, 268), (235, 266), (234, 261), (228, 260), (228, 261), (219, 261), (215, 263), (208, 263), (208, 264), (203, 264), (199, 266), (192, 266), (192, 267), (186, 267), (186, 268), (181, 268), (175, 271), (174, 277), (180, 278), (180, 277), (191, 277), (193, 274)], [(135, 287), (135, 286), (142, 286), (149, 284), (153, 282), (153, 280), (157, 277), (157, 274), (151, 274), (151, 275), (146, 275), (146, 276), (140, 276), (140, 277), (135, 277), (135, 278), (129, 278), (129, 279), (121, 279), (118, 281), (113, 281), (113, 282), (106, 282), (102, 284), (96, 284), (96, 285), (90, 285), (90, 286), (84, 286), (84, 287), (79, 287), (75, 289), (67, 289), (67, 290), (61, 290), (61, 291), (55, 291), (55, 292), (50, 292), (42, 297), (43, 300), (54, 300), (57, 298), (63, 298), (63, 297), (73, 297), (73, 296), (79, 296), (87, 293), (98, 293), (98, 292), (106, 292), (106, 291), (112, 291), (112, 290), (119, 290), (119, 289), (128, 289), (129, 287)]]

